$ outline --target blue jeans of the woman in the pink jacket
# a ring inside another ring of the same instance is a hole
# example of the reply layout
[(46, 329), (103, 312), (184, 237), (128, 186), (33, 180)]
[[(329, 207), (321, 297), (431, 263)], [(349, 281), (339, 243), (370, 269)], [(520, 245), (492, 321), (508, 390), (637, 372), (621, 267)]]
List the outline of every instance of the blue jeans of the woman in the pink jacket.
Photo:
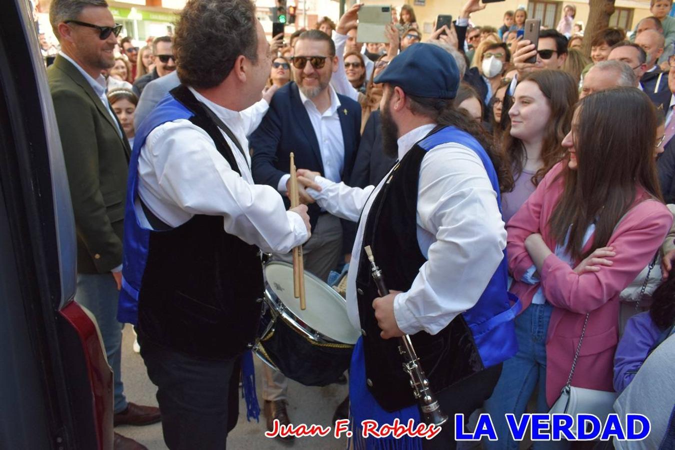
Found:
[[(547, 413), (546, 403), (546, 335), (553, 306), (549, 304), (531, 304), (516, 317), (516, 338), (518, 339), (518, 353), (506, 360), (502, 368), (502, 375), (492, 392), (492, 396), (485, 401), (485, 410), (492, 419), (497, 432), (498, 441), (485, 441), (487, 450), (507, 449), (517, 450), (518, 443), (513, 440), (506, 423), (504, 414), (513, 413), (520, 420), (525, 412), (527, 402), (532, 396), (537, 382), (537, 413)], [(559, 442), (534, 443), (535, 449), (551, 448), (560, 445)], [(562, 442), (566, 446), (566, 442)]]

